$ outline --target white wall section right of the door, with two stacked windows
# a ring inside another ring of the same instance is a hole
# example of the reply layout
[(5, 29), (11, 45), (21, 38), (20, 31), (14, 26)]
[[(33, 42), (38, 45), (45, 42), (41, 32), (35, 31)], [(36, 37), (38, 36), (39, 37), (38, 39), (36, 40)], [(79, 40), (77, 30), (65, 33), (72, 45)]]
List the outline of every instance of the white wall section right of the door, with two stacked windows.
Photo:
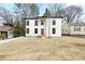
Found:
[[(52, 25), (56, 21), (56, 25)], [(56, 28), (56, 34), (52, 34), (52, 28)], [(61, 18), (46, 20), (46, 37), (61, 37)]]

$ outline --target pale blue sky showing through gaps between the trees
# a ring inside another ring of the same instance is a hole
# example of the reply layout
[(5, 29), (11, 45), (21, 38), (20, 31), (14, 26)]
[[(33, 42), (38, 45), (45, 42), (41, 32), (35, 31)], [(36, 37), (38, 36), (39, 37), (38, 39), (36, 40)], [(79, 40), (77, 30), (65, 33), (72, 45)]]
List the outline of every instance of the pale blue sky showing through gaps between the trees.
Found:
[[(43, 15), (43, 13), (45, 12), (45, 9), (48, 8), (47, 3), (39, 3), (38, 5), (40, 8), (40, 15)], [(68, 5), (71, 5), (71, 4), (68, 4)], [(74, 4), (74, 5), (81, 5), (85, 11), (85, 4)], [(13, 11), (13, 9), (15, 8), (13, 3), (2, 3), (0, 4), (0, 7), (4, 7), (10, 11)]]

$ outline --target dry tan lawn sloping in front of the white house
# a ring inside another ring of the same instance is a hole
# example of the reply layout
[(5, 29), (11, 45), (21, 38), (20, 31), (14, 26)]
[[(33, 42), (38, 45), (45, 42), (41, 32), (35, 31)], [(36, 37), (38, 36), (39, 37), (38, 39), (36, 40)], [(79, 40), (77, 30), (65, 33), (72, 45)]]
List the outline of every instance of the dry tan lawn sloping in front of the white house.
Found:
[(0, 44), (0, 60), (81, 61), (85, 60), (85, 38), (28, 38)]

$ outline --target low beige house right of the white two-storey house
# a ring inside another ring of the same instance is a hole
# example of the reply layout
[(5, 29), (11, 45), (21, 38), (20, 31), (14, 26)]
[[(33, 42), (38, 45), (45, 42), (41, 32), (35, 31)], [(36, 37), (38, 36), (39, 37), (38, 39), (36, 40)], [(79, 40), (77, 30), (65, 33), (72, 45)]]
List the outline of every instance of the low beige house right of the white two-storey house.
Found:
[(84, 23), (63, 23), (61, 29), (62, 35), (85, 35)]

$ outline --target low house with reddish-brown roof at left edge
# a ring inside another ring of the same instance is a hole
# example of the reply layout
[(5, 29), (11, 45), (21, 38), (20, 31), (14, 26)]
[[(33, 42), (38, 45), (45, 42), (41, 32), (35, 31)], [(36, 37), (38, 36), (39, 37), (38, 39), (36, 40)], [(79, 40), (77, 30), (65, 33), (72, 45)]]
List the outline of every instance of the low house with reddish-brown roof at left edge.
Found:
[(0, 26), (0, 35), (3, 35), (4, 38), (12, 38), (13, 28), (10, 26)]

